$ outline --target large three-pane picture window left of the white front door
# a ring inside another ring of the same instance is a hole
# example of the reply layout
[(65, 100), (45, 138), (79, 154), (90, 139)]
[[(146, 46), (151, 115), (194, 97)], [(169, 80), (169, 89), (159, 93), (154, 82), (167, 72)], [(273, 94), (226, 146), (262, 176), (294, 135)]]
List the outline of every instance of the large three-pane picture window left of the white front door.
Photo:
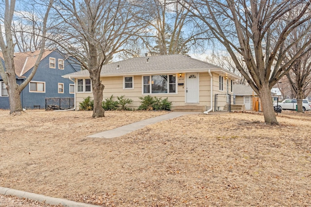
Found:
[(176, 93), (176, 75), (143, 76), (143, 93)]

